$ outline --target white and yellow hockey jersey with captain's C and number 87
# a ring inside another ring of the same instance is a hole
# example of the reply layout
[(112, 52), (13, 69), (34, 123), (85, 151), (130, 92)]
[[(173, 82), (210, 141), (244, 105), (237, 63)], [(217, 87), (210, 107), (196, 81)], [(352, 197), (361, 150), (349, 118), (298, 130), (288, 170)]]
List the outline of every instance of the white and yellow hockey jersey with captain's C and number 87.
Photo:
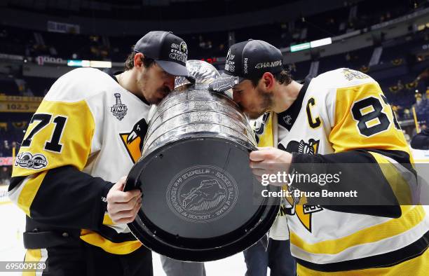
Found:
[[(416, 184), (392, 180), (398, 179), (398, 170), (407, 170), (401, 164), (412, 163), (412, 157), (379, 84), (359, 71), (336, 69), (307, 80), (290, 109), (264, 115), (257, 134), (259, 146), (318, 155), (320, 160), (329, 156), (329, 163), (336, 162), (336, 154), (330, 153), (342, 153), (342, 163), (344, 156), (348, 163), (365, 156), (385, 165), (383, 181), (394, 193), (398, 186)], [(421, 205), (402, 205), (399, 216), (392, 218), (286, 199), (299, 275), (348, 275), (346, 270), (390, 266), (418, 256), (428, 245), (423, 235), (428, 235), (429, 219)], [(421, 244), (415, 247), (416, 242)], [(356, 273), (350, 275), (360, 275)]]

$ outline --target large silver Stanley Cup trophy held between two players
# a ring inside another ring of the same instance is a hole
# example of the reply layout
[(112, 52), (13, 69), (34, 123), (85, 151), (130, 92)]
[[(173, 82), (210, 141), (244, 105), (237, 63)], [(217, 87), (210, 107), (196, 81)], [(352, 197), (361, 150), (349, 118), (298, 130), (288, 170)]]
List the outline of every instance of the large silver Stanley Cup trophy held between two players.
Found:
[[(125, 191), (139, 188), (142, 207), (131, 232), (144, 246), (181, 261), (213, 261), (257, 242), (280, 198), (264, 198), (249, 167), (254, 132), (236, 103), (208, 85), (219, 72), (186, 63), (191, 78), (158, 104)], [(191, 81), (190, 81), (191, 80)]]

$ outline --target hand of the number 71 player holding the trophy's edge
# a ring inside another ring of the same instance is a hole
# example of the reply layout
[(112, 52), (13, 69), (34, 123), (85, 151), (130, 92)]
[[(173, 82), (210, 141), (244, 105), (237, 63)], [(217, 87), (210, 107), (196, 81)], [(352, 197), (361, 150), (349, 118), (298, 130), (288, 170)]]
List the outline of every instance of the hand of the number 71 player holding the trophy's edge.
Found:
[(107, 193), (107, 212), (114, 223), (130, 223), (142, 207), (142, 192), (123, 192), (126, 177), (119, 179)]

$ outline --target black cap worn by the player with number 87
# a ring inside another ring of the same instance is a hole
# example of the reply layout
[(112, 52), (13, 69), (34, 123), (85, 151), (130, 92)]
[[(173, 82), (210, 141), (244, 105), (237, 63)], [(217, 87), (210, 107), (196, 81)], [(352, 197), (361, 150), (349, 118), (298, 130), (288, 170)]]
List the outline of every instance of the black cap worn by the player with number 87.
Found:
[(222, 78), (211, 83), (210, 89), (224, 92), (245, 79), (259, 78), (265, 72), (278, 73), (282, 64), (282, 53), (268, 42), (250, 39), (233, 44), (226, 55)]

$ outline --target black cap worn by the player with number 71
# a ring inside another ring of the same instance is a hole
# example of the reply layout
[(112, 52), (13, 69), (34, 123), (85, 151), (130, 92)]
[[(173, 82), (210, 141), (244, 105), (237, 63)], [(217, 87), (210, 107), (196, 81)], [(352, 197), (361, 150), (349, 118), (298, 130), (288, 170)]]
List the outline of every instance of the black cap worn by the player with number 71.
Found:
[(186, 70), (188, 46), (183, 39), (172, 32), (149, 32), (135, 43), (134, 50), (154, 59), (168, 74), (188, 76), (188, 70)]

